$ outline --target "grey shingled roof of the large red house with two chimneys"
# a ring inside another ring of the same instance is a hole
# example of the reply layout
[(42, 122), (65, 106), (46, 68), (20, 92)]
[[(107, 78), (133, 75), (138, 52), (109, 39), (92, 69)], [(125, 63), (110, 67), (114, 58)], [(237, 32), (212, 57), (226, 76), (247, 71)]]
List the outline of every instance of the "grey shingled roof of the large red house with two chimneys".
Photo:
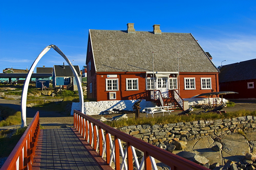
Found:
[(190, 33), (90, 30), (97, 71), (218, 72)]

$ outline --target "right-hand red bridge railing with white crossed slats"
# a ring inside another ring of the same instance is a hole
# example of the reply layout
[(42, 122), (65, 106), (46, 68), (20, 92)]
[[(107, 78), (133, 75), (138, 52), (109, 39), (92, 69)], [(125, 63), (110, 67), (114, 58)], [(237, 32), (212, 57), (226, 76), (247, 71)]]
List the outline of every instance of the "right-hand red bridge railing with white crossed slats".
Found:
[[(157, 169), (155, 160), (169, 166), (171, 170), (208, 169), (112, 128), (77, 110), (74, 110), (74, 127), (92, 148), (98, 152), (99, 156), (107, 164), (111, 165), (113, 163), (117, 170), (133, 169), (134, 166), (136, 166), (136, 169)], [(140, 163), (135, 148), (144, 153)]]

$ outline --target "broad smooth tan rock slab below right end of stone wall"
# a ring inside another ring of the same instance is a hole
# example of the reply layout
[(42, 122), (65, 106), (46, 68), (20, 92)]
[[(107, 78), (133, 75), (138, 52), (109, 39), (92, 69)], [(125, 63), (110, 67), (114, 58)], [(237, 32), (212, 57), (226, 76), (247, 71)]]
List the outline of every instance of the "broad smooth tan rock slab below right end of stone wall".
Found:
[(225, 162), (227, 160), (242, 161), (246, 153), (250, 152), (248, 141), (240, 134), (227, 135), (221, 139), (221, 143), (221, 154)]

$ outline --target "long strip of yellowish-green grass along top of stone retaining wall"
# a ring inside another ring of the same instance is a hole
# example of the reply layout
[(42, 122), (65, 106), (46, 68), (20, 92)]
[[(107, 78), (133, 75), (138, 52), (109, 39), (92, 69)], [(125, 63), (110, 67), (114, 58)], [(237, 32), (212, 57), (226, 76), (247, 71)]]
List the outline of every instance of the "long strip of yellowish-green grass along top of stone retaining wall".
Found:
[(128, 120), (123, 119), (119, 121), (104, 122), (105, 124), (111, 127), (123, 127), (123, 126), (130, 126), (130, 125), (163, 125), (168, 123), (178, 123), (178, 122), (192, 122), (197, 120), (216, 120), (216, 119), (224, 119), (224, 118), (234, 118), (234, 117), (241, 117), (241, 116), (256, 116), (256, 111), (246, 111), (240, 110), (236, 112), (228, 112), (224, 114), (217, 114), (213, 112), (207, 112), (203, 114), (192, 114), (189, 116), (182, 115), (168, 115), (168, 116), (158, 116), (158, 117), (143, 117), (139, 119), (129, 118)]

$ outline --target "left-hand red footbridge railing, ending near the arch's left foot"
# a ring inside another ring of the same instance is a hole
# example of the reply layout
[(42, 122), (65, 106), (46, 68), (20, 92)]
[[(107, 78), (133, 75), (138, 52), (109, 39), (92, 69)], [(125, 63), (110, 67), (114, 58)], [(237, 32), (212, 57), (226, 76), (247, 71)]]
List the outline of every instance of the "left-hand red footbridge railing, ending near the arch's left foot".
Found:
[(39, 131), (37, 112), (1, 169), (32, 169)]

